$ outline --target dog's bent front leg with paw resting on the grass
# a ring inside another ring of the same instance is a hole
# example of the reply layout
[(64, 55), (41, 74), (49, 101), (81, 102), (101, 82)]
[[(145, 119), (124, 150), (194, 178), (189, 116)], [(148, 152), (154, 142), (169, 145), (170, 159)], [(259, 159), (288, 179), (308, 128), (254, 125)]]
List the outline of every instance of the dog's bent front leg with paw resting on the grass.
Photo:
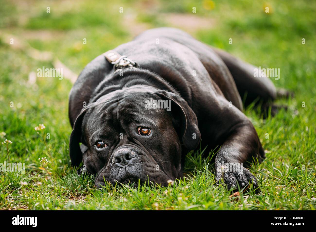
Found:
[[(216, 158), (216, 181), (224, 180), (228, 189), (241, 188), (258, 181), (245, 168), (247, 162), (264, 159), (264, 149), (251, 121), (236, 107), (229, 107), (226, 99), (218, 99), (218, 107), (213, 108), (212, 123), (207, 128), (216, 144), (221, 145)], [(214, 136), (216, 134), (216, 136)]]

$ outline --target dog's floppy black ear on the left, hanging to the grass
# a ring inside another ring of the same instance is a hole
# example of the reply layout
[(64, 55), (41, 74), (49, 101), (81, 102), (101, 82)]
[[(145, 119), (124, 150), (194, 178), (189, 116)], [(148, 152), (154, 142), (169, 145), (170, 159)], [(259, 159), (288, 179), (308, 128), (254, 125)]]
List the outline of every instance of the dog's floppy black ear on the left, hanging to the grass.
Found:
[(82, 152), (79, 146), (79, 142), (81, 140), (81, 125), (82, 119), (85, 113), (87, 112), (87, 108), (82, 110), (81, 113), (77, 116), (76, 121), (74, 123), (74, 128), (72, 129), (69, 141), (69, 154), (71, 159), (71, 166), (79, 166), (82, 161)]

